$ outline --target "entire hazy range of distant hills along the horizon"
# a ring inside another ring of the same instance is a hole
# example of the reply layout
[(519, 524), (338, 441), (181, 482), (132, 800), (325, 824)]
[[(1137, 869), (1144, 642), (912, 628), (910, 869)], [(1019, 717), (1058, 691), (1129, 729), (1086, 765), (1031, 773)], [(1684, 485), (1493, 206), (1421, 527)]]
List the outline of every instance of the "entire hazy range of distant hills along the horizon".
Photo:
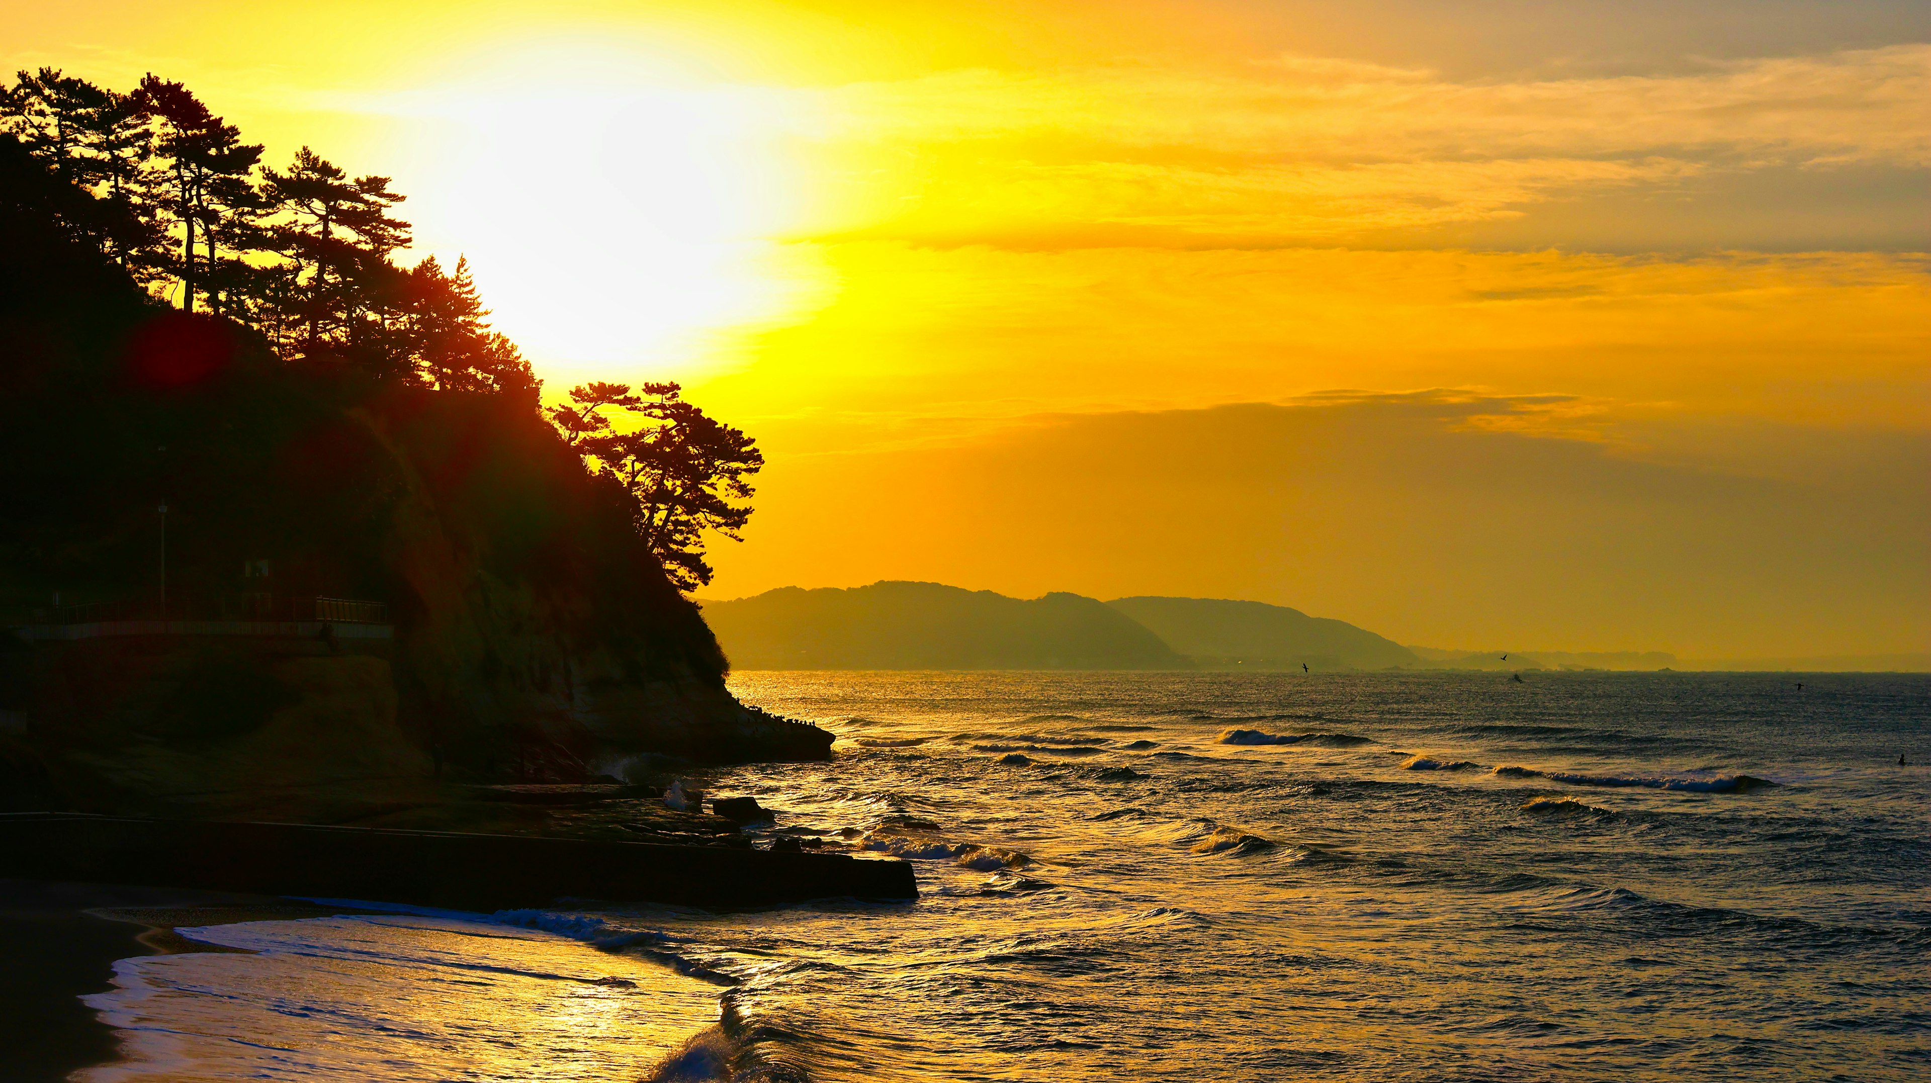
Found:
[(740, 670), (1385, 670), (1421, 666), (1340, 620), (1265, 602), (1008, 598), (940, 583), (782, 587), (703, 602)]

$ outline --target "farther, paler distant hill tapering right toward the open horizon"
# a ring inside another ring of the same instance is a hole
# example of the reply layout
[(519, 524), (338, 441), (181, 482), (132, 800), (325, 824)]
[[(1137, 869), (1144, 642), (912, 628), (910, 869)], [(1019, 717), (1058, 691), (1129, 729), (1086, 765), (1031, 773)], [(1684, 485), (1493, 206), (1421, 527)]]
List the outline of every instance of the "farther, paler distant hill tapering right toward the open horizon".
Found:
[(1106, 604), (1201, 666), (1385, 670), (1421, 662), (1408, 647), (1373, 631), (1267, 602), (1137, 597)]

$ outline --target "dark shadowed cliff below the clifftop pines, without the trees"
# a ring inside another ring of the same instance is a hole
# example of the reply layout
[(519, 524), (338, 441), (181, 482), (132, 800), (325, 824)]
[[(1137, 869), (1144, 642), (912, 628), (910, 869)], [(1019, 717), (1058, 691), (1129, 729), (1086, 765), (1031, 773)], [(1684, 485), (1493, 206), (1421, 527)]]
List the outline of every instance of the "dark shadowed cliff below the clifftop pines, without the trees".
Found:
[(14, 151), (0, 625), (73, 602), (156, 612), (164, 573), (176, 618), (322, 595), (384, 602), (394, 635), (0, 635), (8, 803), (342, 786), (367, 803), (828, 753), (830, 734), (732, 699), (703, 616), (533, 402), (284, 365), (228, 320), (154, 305), (70, 243), (44, 208), (62, 193)]

